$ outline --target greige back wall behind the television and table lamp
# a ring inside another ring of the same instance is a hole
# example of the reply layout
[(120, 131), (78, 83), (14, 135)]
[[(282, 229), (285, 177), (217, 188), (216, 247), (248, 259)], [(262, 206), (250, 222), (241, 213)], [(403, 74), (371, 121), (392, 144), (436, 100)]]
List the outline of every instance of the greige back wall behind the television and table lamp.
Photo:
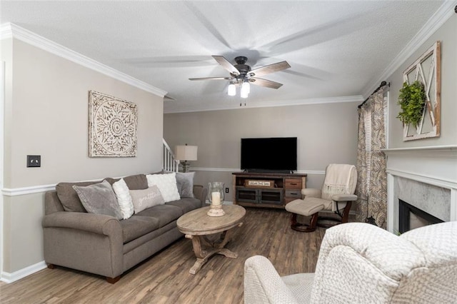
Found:
[[(297, 137), (298, 171), (307, 187), (321, 188), (328, 163), (356, 164), (358, 103), (239, 108), (164, 115), (164, 138), (174, 148), (199, 146), (196, 183), (222, 181), (230, 188), (240, 168), (240, 140), (248, 137)], [(274, 160), (272, 160), (274, 161)], [(232, 193), (226, 201), (232, 201)]]

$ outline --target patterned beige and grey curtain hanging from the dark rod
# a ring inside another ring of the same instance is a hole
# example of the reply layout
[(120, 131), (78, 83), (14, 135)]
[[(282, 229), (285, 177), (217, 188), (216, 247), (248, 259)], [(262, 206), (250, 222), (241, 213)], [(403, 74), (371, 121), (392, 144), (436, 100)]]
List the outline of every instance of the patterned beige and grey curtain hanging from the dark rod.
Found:
[(356, 221), (386, 228), (387, 173), (385, 87), (373, 93), (358, 109)]

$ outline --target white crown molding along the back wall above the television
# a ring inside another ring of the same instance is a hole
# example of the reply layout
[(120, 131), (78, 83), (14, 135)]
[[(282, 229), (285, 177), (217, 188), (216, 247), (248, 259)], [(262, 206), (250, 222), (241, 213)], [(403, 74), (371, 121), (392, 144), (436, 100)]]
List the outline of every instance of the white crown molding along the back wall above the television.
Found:
[(191, 113), (191, 112), (206, 112), (206, 111), (220, 111), (220, 110), (238, 110), (242, 108), (268, 108), (276, 106), (303, 106), (311, 104), (321, 103), (344, 103), (344, 102), (362, 102), (363, 96), (337, 96), (337, 97), (323, 97), (323, 98), (305, 98), (305, 99), (290, 99), (290, 100), (278, 100), (278, 101), (261, 101), (255, 103), (249, 103), (246, 101), (246, 106), (238, 106), (238, 103), (231, 103), (230, 106), (213, 106), (211, 108), (177, 108), (166, 110), (164, 108), (164, 114), (173, 113)]

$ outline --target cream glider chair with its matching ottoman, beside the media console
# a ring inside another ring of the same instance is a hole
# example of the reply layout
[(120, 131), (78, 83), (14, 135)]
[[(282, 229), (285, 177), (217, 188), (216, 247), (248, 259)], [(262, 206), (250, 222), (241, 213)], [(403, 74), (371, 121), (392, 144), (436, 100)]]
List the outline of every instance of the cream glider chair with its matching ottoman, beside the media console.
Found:
[[(331, 163), (326, 168), (326, 176), (321, 189), (301, 189), (303, 199), (291, 201), (286, 211), (291, 214), (291, 228), (301, 232), (316, 230), (316, 226), (331, 227), (338, 223), (347, 223), (357, 183), (356, 166)], [(318, 217), (319, 211), (333, 211), (338, 217)], [(311, 216), (309, 224), (298, 223), (297, 215)], [(329, 225), (318, 221), (336, 221)], [(304, 227), (303, 227), (304, 226)]]

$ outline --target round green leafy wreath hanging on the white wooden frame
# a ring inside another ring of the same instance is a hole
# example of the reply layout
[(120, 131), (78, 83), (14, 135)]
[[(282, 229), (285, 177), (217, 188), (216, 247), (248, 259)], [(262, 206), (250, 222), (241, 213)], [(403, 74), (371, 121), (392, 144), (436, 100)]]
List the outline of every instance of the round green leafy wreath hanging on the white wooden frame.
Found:
[(421, 81), (414, 81), (408, 84), (403, 83), (403, 88), (400, 89), (398, 96), (398, 105), (401, 106), (401, 112), (397, 118), (405, 124), (413, 124), (417, 128), (422, 119), (424, 104), (427, 101), (426, 90)]

